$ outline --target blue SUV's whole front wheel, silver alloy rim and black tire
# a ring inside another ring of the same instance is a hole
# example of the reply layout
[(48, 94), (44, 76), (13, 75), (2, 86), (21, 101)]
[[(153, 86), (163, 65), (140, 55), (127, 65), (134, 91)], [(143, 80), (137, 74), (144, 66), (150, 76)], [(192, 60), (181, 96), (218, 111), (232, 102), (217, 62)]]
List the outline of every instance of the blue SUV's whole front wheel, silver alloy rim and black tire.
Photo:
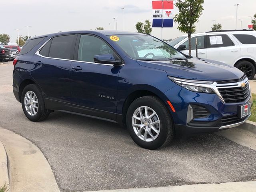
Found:
[(126, 124), (136, 144), (146, 149), (168, 145), (174, 135), (174, 125), (168, 109), (155, 96), (140, 97), (129, 106)]

